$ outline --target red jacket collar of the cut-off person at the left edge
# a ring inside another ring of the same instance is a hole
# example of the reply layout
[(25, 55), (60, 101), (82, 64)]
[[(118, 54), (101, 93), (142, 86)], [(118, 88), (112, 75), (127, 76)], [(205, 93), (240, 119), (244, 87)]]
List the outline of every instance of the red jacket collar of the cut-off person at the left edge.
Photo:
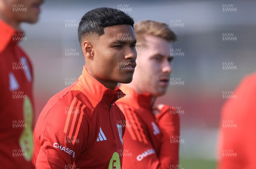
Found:
[[(23, 36), (23, 32), (17, 32), (12, 26), (5, 23), (3, 20), (0, 20), (0, 53), (6, 49), (6, 46), (9, 43), (16, 44)], [(17, 40), (13, 40), (13, 37)]]

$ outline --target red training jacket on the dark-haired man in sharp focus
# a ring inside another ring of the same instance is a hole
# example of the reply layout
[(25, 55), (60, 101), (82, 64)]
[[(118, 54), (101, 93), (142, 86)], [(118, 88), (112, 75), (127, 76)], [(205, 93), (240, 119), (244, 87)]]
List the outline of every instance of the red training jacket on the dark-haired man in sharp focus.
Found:
[(36, 169), (121, 169), (125, 116), (114, 103), (121, 90), (107, 89), (83, 73), (54, 95), (34, 131)]

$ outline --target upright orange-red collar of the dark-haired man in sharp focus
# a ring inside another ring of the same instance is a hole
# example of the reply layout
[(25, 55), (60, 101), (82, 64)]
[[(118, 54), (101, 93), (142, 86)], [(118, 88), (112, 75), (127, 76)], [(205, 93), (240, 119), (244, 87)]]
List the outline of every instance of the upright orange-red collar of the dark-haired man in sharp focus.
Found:
[(108, 103), (108, 105), (112, 105), (116, 100), (125, 96), (122, 95), (122, 91), (118, 86), (116, 86), (114, 90), (106, 88), (87, 72), (85, 66), (77, 84), (71, 90), (77, 89), (88, 97), (93, 107), (96, 107), (100, 101)]

